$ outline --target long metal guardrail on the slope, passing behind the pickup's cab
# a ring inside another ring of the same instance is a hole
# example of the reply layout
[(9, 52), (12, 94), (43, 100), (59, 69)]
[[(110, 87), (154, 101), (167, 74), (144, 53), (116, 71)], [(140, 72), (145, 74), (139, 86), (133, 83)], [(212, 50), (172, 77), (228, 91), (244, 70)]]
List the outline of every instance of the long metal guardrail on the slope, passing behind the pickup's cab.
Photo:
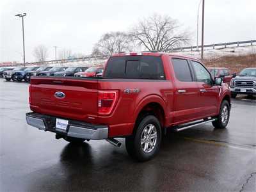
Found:
[[(212, 47), (212, 49), (215, 49), (215, 47), (220, 48), (220, 46), (224, 46), (223, 48), (227, 48), (228, 45), (236, 45), (236, 47), (239, 47), (240, 45), (253, 45), (253, 43), (256, 43), (256, 40), (248, 40), (248, 41), (242, 41), (242, 42), (228, 42), (228, 43), (222, 43), (222, 44), (208, 44), (204, 45), (205, 47)], [(177, 47), (174, 49), (168, 49), (166, 52), (171, 52), (171, 51), (184, 51), (190, 49), (190, 51), (196, 51), (200, 49), (202, 46), (198, 45), (197, 46), (188, 46), (188, 47)], [(196, 49), (196, 50), (194, 50)], [(41, 62), (31, 62), (31, 63), (26, 63), (26, 66), (29, 65), (49, 65), (49, 64), (55, 64), (55, 63), (67, 63), (67, 62), (74, 62), (74, 61), (90, 61), (90, 60), (105, 60), (109, 56), (84, 56), (81, 58), (71, 58), (71, 59), (65, 59), (65, 60), (50, 60), (50, 61), (41, 61)], [(15, 63), (15, 64), (2, 64), (0, 67), (10, 67), (10, 66), (23, 66), (23, 63)]]

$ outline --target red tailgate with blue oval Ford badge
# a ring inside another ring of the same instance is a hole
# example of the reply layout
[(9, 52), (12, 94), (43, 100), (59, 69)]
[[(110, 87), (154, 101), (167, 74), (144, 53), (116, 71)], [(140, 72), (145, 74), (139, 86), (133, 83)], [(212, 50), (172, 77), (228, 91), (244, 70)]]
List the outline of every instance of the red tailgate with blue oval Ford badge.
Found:
[(97, 79), (31, 78), (30, 108), (42, 114), (90, 122), (97, 118)]

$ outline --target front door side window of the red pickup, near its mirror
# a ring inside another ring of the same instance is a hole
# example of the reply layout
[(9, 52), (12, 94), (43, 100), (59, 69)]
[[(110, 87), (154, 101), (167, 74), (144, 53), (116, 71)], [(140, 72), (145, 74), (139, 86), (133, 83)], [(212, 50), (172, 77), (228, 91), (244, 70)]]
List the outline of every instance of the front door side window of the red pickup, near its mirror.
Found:
[(204, 66), (201, 63), (198, 63), (196, 61), (191, 61), (192, 66), (195, 70), (195, 76), (196, 80), (199, 82), (204, 82), (207, 84), (211, 84), (211, 75), (209, 72), (204, 68)]

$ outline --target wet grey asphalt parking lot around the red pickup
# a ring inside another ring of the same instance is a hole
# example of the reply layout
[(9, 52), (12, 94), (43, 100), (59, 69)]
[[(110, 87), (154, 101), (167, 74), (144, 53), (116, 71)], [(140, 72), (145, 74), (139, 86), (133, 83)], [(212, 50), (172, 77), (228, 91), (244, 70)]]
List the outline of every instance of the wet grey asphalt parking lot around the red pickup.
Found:
[(227, 129), (168, 132), (146, 163), (131, 159), (124, 145), (71, 145), (27, 125), (28, 83), (0, 79), (0, 108), (0, 191), (256, 189), (256, 97), (232, 100)]

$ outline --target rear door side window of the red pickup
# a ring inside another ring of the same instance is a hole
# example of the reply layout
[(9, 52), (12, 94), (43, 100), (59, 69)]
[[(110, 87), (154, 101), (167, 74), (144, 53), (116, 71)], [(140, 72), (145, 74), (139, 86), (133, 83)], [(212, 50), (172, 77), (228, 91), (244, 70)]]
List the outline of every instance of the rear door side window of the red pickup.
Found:
[(191, 71), (189, 69), (188, 61), (182, 59), (172, 59), (172, 64), (175, 76), (179, 81), (192, 81)]

